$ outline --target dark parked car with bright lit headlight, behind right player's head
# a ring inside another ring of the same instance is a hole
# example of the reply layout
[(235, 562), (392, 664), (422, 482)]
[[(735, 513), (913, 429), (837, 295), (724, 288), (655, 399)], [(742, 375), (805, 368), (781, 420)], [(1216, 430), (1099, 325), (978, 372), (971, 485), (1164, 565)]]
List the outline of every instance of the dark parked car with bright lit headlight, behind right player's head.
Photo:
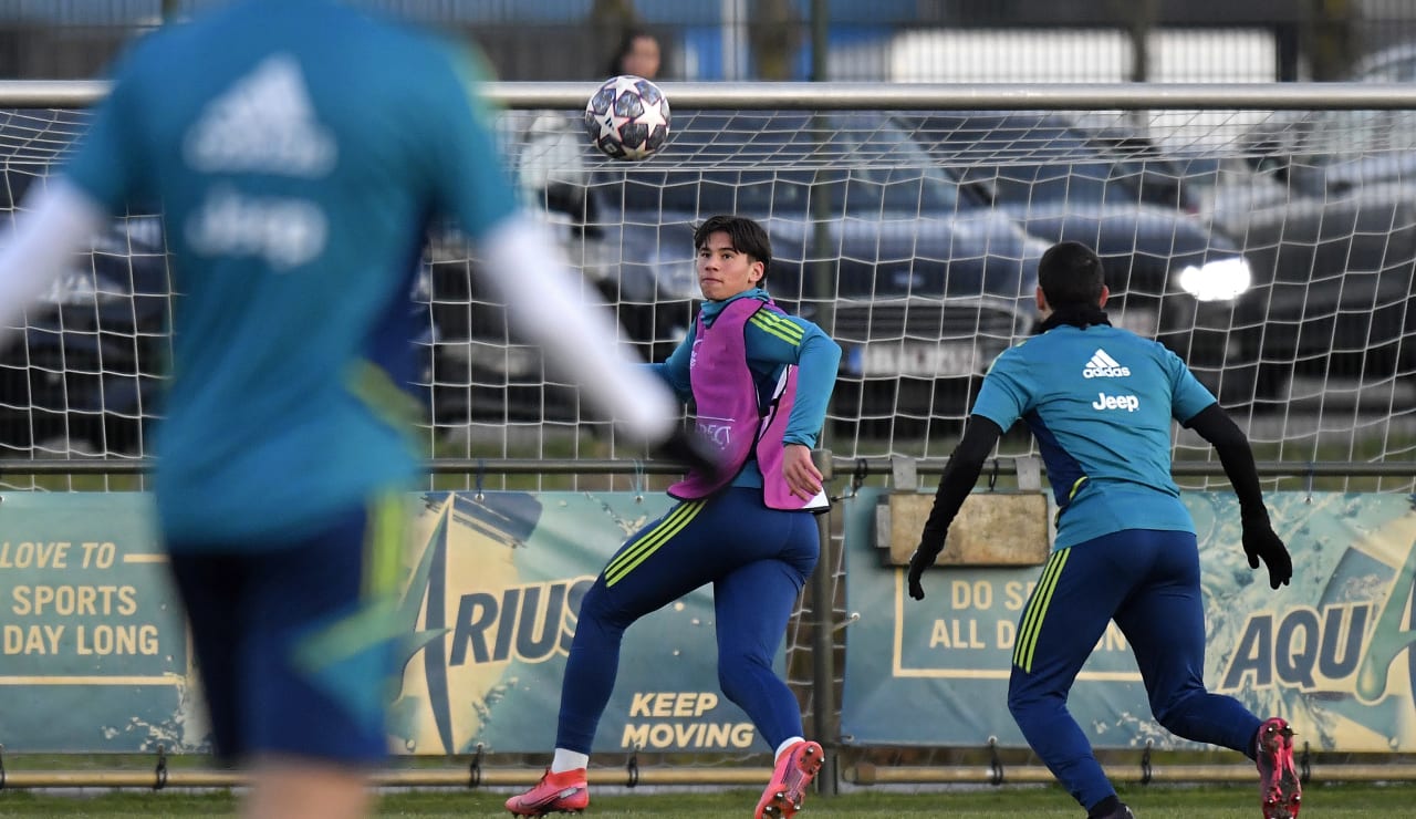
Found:
[(1082, 129), (1055, 113), (940, 112), (901, 120), (936, 162), (1029, 234), (1095, 248), (1113, 322), (1175, 350), (1221, 401), (1253, 398), (1232, 373), (1257, 346), (1257, 334), (1233, 322), (1253, 298), (1249, 259), (1187, 213), (1192, 194), (1174, 163), (1140, 150), (1137, 136)]

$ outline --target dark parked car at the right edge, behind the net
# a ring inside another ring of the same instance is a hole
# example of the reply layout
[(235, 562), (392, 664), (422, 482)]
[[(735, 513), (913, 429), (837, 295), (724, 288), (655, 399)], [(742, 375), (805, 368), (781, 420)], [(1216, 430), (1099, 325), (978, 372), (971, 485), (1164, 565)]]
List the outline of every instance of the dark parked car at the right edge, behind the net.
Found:
[[(1392, 378), (1416, 370), (1416, 113), (1324, 111), (1249, 153), (1260, 181), (1221, 217), (1255, 262), (1260, 377)], [(1277, 190), (1281, 196), (1259, 194)], [(1246, 193), (1247, 191), (1247, 193)]]

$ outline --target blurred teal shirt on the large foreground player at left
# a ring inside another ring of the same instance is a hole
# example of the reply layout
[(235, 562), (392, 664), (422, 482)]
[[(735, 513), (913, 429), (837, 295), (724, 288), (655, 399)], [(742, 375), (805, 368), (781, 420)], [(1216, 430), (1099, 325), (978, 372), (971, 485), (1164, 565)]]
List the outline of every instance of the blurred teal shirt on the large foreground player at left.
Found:
[(513, 214), (480, 81), (460, 47), (327, 0), (238, 1), (120, 62), (65, 174), (164, 215), (169, 537), (273, 546), (416, 475), (426, 230)]

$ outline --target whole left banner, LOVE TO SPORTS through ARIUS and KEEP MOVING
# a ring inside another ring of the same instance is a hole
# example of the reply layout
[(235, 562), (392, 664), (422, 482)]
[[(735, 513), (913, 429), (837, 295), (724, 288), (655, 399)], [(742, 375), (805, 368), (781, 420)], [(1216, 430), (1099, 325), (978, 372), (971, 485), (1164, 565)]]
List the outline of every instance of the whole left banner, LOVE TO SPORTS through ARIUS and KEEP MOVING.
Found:
[[(0, 495), (7, 750), (208, 750), (200, 669), (150, 503), (139, 493)], [(391, 747), (549, 751), (581, 597), (673, 502), (493, 492), (409, 495), (409, 503)], [(617, 662), (596, 751), (766, 750), (718, 690), (711, 589), (634, 623)]]

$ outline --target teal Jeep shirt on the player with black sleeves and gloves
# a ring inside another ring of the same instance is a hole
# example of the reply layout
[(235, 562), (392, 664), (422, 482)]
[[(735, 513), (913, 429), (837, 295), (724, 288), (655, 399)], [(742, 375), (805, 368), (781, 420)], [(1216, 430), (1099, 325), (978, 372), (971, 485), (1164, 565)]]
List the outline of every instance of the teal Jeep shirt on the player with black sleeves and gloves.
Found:
[(973, 414), (1032, 431), (1062, 510), (1062, 548), (1123, 529), (1194, 531), (1170, 475), (1171, 422), (1214, 402), (1163, 344), (1063, 324), (1004, 351)]

